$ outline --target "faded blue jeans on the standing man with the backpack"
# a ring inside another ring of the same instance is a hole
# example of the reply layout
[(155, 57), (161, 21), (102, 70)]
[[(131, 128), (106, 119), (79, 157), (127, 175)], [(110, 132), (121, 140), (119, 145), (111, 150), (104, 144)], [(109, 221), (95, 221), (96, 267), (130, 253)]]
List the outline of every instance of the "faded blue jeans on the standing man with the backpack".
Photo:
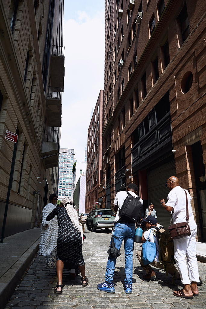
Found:
[[(124, 239), (125, 252), (125, 284), (132, 284), (132, 267), (133, 267), (133, 250), (134, 250), (134, 234), (135, 223), (116, 223), (114, 231), (115, 247), (120, 250), (122, 241)], [(105, 280), (109, 283), (113, 281), (115, 271), (116, 259), (108, 257), (107, 270), (105, 273)]]

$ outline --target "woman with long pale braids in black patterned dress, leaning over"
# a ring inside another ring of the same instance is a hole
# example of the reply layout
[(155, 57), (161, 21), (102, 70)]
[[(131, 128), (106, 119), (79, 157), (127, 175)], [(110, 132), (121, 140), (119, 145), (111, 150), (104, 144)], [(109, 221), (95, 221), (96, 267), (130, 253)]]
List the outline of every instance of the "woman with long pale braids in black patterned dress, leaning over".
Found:
[(88, 278), (85, 277), (85, 264), (82, 255), (83, 233), (82, 225), (78, 221), (77, 211), (72, 206), (70, 198), (65, 197), (61, 204), (51, 212), (46, 218), (50, 221), (57, 216), (59, 225), (57, 239), (57, 277), (58, 282), (54, 288), (54, 293), (60, 295), (62, 293), (62, 272), (64, 262), (78, 265), (82, 275), (82, 286), (87, 286)]

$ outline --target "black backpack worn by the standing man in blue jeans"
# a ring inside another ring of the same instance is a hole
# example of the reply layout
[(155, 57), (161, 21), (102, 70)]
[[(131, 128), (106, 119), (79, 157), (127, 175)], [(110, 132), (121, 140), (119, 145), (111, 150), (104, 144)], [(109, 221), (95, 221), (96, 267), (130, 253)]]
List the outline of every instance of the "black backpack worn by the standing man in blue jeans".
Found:
[(121, 217), (125, 218), (125, 220), (136, 222), (140, 217), (142, 208), (140, 197), (132, 196), (128, 191), (126, 192), (128, 197), (125, 198), (122, 207), (119, 209), (119, 214)]

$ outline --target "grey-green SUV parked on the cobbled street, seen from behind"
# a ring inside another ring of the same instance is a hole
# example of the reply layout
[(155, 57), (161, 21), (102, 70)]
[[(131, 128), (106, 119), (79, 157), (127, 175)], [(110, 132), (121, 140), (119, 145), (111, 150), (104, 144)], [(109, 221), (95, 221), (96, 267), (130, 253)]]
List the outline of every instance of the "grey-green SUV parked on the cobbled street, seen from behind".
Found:
[(115, 213), (111, 209), (95, 209), (90, 211), (86, 218), (87, 230), (95, 232), (96, 229), (113, 228)]

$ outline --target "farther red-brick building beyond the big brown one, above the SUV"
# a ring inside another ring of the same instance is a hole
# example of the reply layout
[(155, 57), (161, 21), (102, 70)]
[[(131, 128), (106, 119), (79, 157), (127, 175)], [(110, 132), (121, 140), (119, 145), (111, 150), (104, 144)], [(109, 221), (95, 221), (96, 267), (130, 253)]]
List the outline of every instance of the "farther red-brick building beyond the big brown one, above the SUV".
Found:
[(102, 182), (102, 124), (103, 95), (100, 90), (88, 129), (87, 164), (86, 164), (86, 204), (85, 211), (95, 209), (98, 201), (98, 190)]

